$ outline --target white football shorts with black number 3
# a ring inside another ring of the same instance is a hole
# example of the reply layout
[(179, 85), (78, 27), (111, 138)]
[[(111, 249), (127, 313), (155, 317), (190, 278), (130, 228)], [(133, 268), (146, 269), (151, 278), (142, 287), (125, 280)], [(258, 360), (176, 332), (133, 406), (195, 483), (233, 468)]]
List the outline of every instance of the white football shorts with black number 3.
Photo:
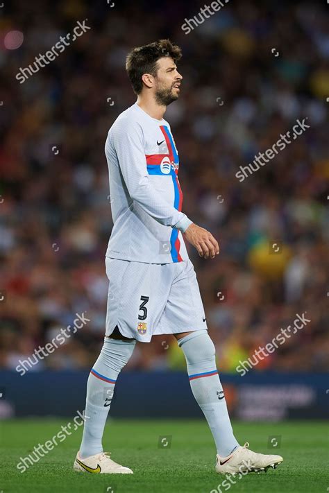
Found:
[(142, 343), (152, 336), (208, 329), (192, 262), (144, 263), (106, 257), (106, 336)]

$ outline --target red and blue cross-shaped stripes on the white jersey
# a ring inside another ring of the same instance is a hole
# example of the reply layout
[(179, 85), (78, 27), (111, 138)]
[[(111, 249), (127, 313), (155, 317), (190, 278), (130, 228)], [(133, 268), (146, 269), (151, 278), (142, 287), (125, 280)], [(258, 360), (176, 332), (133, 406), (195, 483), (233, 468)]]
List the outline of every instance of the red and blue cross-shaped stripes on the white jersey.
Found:
[[(173, 185), (174, 185), (174, 207), (178, 211), (182, 210), (183, 204), (183, 192), (180, 189), (180, 184), (178, 182), (178, 164), (179, 157), (178, 152), (176, 150), (176, 146), (174, 144), (174, 139), (172, 138), (171, 132), (169, 128), (165, 125), (160, 126), (160, 130), (165, 137), (165, 141), (167, 144), (167, 148), (169, 150), (169, 154), (151, 154), (146, 155), (146, 164), (147, 171), (149, 175), (163, 175), (163, 176), (171, 176)], [(170, 172), (163, 173), (161, 170), (161, 162), (165, 157), (169, 158), (171, 163)], [(177, 166), (172, 166), (172, 164), (176, 164)], [(182, 257), (180, 257), (180, 241), (178, 238), (178, 230), (173, 228), (170, 236), (170, 245), (171, 245), (171, 258), (173, 262), (181, 262), (183, 261)]]

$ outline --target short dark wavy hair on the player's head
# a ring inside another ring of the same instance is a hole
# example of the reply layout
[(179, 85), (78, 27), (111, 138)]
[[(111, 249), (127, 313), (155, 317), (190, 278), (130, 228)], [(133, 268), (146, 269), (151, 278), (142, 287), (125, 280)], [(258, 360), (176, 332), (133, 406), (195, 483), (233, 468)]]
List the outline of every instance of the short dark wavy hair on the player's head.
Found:
[(126, 71), (135, 94), (142, 92), (142, 75), (151, 73), (156, 76), (158, 70), (157, 62), (164, 56), (171, 57), (178, 62), (182, 56), (179, 46), (172, 44), (169, 40), (158, 40), (144, 46), (132, 49), (126, 58)]

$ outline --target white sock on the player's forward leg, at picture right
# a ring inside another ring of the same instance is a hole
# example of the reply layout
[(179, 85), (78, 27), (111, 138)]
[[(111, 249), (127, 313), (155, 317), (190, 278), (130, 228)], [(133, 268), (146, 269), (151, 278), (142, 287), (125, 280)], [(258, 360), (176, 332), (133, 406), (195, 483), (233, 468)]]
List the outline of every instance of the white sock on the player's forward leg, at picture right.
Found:
[(214, 343), (208, 331), (199, 330), (178, 340), (187, 363), (193, 395), (210, 426), (217, 453), (228, 456), (239, 443), (233, 435), (226, 399), (216, 367)]

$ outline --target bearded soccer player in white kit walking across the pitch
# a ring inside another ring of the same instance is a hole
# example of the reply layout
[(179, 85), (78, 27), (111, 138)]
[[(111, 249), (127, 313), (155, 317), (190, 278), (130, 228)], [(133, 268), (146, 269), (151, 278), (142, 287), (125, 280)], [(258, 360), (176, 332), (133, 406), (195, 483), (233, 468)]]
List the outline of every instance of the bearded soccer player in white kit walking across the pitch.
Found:
[(182, 212), (178, 150), (167, 105), (180, 94), (180, 48), (159, 40), (128, 54), (126, 70), (137, 101), (113, 123), (106, 140), (113, 228), (106, 252), (110, 281), (106, 336), (87, 382), (83, 440), (74, 470), (132, 474), (103, 452), (102, 436), (119, 372), (136, 341), (173, 334), (183, 349), (193, 395), (217, 448), (218, 473), (276, 467), (282, 457), (240, 446), (230, 424), (215, 349), (185, 240), (204, 259), (219, 245)]

